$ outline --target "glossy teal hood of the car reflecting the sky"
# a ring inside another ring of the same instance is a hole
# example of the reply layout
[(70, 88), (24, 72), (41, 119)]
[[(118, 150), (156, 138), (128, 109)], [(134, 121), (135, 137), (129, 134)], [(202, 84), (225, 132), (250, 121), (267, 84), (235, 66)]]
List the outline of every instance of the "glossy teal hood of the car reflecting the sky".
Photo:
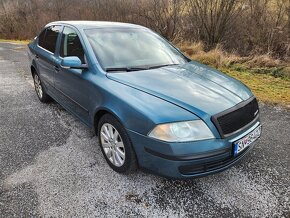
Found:
[(252, 96), (243, 83), (194, 61), (151, 70), (108, 73), (107, 76), (201, 117), (217, 114)]

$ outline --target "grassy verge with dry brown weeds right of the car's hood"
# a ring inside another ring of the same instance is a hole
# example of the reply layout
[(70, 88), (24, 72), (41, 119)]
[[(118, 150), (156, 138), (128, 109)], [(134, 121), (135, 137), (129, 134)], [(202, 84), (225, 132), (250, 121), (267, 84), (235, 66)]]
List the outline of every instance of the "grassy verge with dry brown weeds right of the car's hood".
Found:
[(290, 108), (290, 63), (269, 55), (240, 57), (221, 48), (205, 52), (201, 43), (179, 47), (193, 60), (210, 65), (245, 83), (256, 97)]

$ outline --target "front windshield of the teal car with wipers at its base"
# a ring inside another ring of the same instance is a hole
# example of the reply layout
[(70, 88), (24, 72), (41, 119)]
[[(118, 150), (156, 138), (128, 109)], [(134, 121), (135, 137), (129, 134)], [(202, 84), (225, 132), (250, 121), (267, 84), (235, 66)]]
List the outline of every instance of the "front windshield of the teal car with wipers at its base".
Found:
[(130, 71), (183, 64), (188, 60), (146, 29), (88, 29), (88, 40), (106, 71)]

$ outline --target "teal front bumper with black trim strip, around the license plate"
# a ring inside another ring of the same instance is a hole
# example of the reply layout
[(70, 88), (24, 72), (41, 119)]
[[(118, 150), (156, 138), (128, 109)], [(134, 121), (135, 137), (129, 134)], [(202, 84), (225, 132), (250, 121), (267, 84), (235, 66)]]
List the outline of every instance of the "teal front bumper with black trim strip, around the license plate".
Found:
[(128, 133), (141, 168), (164, 177), (186, 179), (221, 172), (236, 164), (255, 143), (234, 157), (233, 142), (259, 125), (257, 121), (246, 130), (224, 139), (189, 143), (166, 143), (130, 130)]

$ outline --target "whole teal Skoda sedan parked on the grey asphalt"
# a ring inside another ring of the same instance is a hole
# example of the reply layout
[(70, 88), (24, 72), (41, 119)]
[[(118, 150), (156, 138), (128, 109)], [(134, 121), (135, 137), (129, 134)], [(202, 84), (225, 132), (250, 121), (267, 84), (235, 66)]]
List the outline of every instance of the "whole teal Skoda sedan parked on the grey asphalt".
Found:
[(243, 83), (143, 26), (57, 21), (28, 48), (39, 100), (54, 99), (93, 129), (118, 173), (205, 176), (236, 164), (261, 135)]

